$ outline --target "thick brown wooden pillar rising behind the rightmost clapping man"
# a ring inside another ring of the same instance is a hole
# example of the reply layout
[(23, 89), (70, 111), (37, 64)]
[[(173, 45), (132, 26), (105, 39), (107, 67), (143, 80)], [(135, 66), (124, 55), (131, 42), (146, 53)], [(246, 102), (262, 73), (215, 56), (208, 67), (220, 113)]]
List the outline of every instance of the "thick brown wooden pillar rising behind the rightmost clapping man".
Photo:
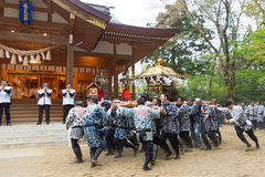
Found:
[(66, 61), (66, 84), (73, 85), (73, 71), (74, 71), (74, 45), (67, 44), (67, 61)]

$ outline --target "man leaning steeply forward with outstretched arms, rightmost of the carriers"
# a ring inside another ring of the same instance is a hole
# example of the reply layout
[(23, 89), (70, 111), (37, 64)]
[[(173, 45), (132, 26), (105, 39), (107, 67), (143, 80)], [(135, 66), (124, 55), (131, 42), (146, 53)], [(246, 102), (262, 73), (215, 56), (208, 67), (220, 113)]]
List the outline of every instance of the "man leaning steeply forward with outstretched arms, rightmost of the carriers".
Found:
[(251, 144), (246, 140), (243, 133), (245, 132), (250, 138), (256, 143), (256, 148), (259, 148), (257, 137), (254, 135), (252, 123), (247, 119), (244, 111), (241, 107), (234, 106), (231, 101), (225, 103), (225, 107), (218, 107), (215, 108), (221, 110), (225, 114), (231, 115), (231, 119), (224, 119), (225, 123), (234, 123), (236, 135), (239, 138), (246, 144), (246, 150), (251, 149)]

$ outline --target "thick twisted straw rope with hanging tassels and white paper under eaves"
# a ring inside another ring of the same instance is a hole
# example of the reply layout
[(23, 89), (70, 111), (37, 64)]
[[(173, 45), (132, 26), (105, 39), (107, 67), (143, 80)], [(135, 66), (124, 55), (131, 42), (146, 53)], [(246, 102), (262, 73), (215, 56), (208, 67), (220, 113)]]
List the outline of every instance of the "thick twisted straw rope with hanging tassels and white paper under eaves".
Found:
[[(10, 53), (12, 54), (12, 58), (10, 61), (11, 64), (17, 64), (15, 55), (18, 55), (19, 62), (23, 61), (23, 65), (29, 65), (28, 56), (30, 56), (31, 61), (34, 61), (34, 63), (40, 64), (41, 63), (40, 54), (42, 55), (42, 60), (46, 59), (47, 61), (52, 61), (51, 50), (56, 46), (59, 46), (59, 45), (53, 45), (53, 46), (34, 50), (34, 51), (33, 50), (21, 51), (21, 50), (17, 50), (17, 49), (0, 44), (0, 58), (4, 58), (4, 51), (6, 51), (6, 56), (8, 59), (10, 59)], [(44, 52), (46, 52), (46, 56), (45, 56)], [(36, 55), (36, 60), (34, 60), (34, 55)], [(24, 58), (24, 60), (22, 59), (22, 56)]]

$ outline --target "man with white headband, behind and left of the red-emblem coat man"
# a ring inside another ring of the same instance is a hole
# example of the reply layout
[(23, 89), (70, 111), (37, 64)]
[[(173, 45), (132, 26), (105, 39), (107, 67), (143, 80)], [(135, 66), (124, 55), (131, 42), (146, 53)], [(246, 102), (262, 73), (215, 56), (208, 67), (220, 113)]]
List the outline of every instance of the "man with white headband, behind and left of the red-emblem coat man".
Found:
[(115, 121), (116, 132), (114, 134), (114, 147), (118, 152), (118, 155), (115, 156), (115, 158), (123, 157), (123, 155), (121, 155), (123, 146), (125, 146), (127, 148), (132, 148), (134, 156), (136, 156), (137, 152), (138, 152), (138, 146), (135, 146), (127, 140), (127, 139), (130, 139), (131, 136), (134, 136), (130, 133), (130, 128), (131, 128), (130, 118), (131, 117), (120, 114), (120, 112), (118, 112), (118, 111), (123, 107), (117, 107), (118, 105), (119, 105), (119, 102), (117, 100), (114, 100), (113, 105), (110, 107), (110, 110), (114, 110), (114, 108), (116, 110), (116, 121)]

